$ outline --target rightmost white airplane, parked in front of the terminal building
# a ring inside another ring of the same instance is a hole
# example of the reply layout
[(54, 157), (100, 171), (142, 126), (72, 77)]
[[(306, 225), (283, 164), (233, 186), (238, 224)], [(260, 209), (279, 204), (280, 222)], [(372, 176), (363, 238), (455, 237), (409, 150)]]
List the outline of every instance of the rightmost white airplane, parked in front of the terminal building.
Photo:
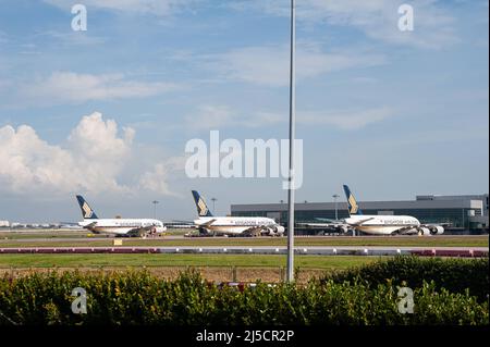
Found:
[(304, 223), (307, 226), (332, 227), (347, 232), (354, 230), (371, 235), (440, 235), (444, 233), (444, 227), (437, 224), (421, 224), (412, 215), (378, 215), (363, 214), (351, 189), (344, 185), (347, 198), (350, 216), (342, 220), (340, 224), (334, 223)]

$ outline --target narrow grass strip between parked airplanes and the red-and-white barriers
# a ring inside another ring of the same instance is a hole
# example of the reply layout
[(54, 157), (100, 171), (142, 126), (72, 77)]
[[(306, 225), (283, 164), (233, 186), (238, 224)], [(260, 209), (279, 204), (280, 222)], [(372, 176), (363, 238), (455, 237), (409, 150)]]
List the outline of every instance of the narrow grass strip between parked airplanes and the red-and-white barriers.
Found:
[[(113, 238), (91, 239), (86, 235), (78, 239), (60, 239), (63, 236), (38, 235), (37, 240), (15, 238), (17, 235), (0, 234), (0, 247), (76, 247), (112, 246)], [(51, 234), (50, 234), (51, 235)], [(78, 237), (81, 234), (78, 233)], [(5, 239), (7, 238), (7, 239)], [(42, 238), (42, 239), (40, 239)], [(200, 237), (157, 239), (123, 238), (124, 246), (285, 246), (285, 237)], [(440, 247), (488, 247), (489, 236), (313, 236), (296, 237), (296, 246), (440, 246)]]

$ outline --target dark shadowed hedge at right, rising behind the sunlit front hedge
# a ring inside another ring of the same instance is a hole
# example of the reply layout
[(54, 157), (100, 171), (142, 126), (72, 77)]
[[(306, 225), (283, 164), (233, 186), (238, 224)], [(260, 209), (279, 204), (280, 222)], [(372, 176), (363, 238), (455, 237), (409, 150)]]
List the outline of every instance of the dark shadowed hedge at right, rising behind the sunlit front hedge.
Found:
[(322, 282), (358, 282), (369, 286), (405, 283), (411, 288), (433, 281), (436, 288), (464, 294), (469, 290), (479, 301), (488, 300), (489, 264), (483, 259), (442, 259), (397, 256), (389, 260), (327, 274)]

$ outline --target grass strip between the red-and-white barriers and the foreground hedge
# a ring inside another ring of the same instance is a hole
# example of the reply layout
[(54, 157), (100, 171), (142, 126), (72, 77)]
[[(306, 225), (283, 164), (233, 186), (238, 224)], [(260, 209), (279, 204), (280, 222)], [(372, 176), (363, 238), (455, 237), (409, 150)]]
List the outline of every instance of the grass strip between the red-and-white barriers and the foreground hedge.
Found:
[[(296, 256), (295, 272), (301, 283), (322, 276), (326, 271), (344, 270), (378, 260), (378, 257)], [(262, 255), (2, 255), (2, 273), (24, 275), (32, 272), (73, 271), (112, 272), (145, 269), (166, 278), (175, 278), (188, 268), (215, 281), (283, 282), (285, 256)]]

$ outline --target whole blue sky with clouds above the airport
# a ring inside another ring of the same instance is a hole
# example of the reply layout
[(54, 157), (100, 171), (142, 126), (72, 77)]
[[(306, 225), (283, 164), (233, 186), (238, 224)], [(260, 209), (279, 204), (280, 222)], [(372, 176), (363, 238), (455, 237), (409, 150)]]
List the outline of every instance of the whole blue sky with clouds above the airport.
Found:
[[(86, 32), (71, 7), (85, 4)], [(189, 190), (286, 199), (282, 178), (187, 178), (185, 144), (287, 137), (286, 0), (0, 0), (0, 219), (195, 215)], [(414, 32), (397, 28), (402, 3)], [(298, 201), (488, 193), (488, 1), (297, 1)]]

